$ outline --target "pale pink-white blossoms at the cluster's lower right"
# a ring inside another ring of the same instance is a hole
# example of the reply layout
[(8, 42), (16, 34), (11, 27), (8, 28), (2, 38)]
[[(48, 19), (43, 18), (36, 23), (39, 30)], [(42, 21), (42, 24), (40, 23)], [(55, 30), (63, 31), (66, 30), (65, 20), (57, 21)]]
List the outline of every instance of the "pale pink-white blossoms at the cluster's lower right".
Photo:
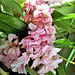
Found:
[[(56, 50), (56, 52), (55, 52)], [(51, 51), (54, 51), (54, 53), (52, 53)], [(42, 74), (45, 74), (49, 71), (52, 71), (53, 74), (55, 75), (56, 72), (54, 69), (56, 69), (58, 67), (58, 64), (61, 63), (63, 60), (62, 59), (59, 59), (59, 56), (57, 55), (57, 52), (60, 51), (59, 48), (55, 49), (54, 50), (52, 49), (50, 51), (50, 53), (52, 54), (47, 54), (49, 56), (43, 56), (42, 59), (35, 59), (31, 68), (35, 68), (36, 66), (40, 65), (41, 64), (41, 68), (38, 70), (38, 73), (39, 75), (42, 75)], [(57, 58), (56, 58), (57, 57)]]

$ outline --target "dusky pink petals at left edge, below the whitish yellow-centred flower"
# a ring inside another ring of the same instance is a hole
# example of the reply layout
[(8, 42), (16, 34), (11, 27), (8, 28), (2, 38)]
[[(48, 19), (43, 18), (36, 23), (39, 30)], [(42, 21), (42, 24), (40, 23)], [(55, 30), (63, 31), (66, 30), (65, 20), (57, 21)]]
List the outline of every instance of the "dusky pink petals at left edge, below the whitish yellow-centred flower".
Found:
[(0, 57), (1, 57), (0, 61), (2, 61), (7, 68), (10, 68), (12, 62), (15, 59), (17, 59), (18, 56), (20, 55), (20, 50), (19, 50), (19, 48), (13, 47), (13, 48), (7, 49), (7, 52), (4, 52), (4, 53), (5, 53), (5, 55), (3, 55), (3, 54), (0, 55)]

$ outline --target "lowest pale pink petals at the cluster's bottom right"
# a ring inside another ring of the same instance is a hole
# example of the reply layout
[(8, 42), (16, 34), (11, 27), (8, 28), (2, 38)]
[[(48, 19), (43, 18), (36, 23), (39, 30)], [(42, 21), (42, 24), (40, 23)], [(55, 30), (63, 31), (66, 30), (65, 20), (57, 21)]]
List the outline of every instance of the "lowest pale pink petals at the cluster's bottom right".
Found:
[(61, 63), (62, 61), (63, 61), (62, 59), (58, 59), (58, 60), (54, 60), (52, 62), (52, 64), (43, 65), (43, 66), (41, 66), (41, 68), (38, 71), (38, 73), (40, 75), (42, 75), (42, 74), (45, 74), (45, 73), (51, 71), (55, 75), (56, 71), (54, 69), (58, 68), (58, 64)]

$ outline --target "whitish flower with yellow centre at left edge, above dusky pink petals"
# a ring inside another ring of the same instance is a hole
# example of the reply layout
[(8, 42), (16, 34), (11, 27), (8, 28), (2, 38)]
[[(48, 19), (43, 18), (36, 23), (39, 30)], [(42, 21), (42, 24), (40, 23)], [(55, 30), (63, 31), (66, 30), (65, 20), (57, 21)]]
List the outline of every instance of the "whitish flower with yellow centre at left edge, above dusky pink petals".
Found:
[[(14, 42), (12, 42), (12, 40), (15, 39)], [(16, 36), (15, 34), (9, 34), (8, 35), (8, 40), (6, 41), (5, 39), (1, 39), (1, 49), (5, 49), (7, 47), (10, 47), (12, 45), (14, 46), (18, 46), (19, 41), (18, 41), (18, 36)]]

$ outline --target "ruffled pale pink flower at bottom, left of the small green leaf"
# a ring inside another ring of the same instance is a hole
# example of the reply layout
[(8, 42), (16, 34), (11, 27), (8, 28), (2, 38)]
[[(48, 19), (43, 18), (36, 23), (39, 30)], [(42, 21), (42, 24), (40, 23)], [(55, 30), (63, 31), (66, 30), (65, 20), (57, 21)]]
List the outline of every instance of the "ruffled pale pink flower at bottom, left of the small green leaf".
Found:
[(27, 74), (27, 70), (25, 68), (26, 64), (28, 65), (28, 62), (30, 60), (30, 56), (28, 56), (26, 53), (22, 53), (22, 56), (17, 59), (17, 61), (14, 61), (11, 64), (11, 69), (13, 72), (18, 73), (25, 73)]

